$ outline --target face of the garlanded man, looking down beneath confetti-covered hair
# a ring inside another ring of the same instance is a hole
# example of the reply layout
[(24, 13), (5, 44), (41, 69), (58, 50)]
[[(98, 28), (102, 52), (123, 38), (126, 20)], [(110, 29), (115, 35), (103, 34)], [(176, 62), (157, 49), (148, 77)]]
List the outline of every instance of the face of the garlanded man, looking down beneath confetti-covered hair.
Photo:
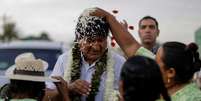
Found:
[(79, 41), (80, 51), (86, 61), (96, 61), (107, 49), (106, 37), (83, 38)]

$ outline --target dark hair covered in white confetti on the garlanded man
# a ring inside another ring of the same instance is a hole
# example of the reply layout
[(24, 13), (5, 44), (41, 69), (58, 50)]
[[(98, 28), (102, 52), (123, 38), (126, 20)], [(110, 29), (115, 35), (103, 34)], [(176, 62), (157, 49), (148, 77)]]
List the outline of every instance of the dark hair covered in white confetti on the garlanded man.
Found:
[(76, 41), (83, 38), (107, 37), (109, 24), (105, 18), (90, 16), (93, 9), (85, 10), (78, 18), (75, 28)]

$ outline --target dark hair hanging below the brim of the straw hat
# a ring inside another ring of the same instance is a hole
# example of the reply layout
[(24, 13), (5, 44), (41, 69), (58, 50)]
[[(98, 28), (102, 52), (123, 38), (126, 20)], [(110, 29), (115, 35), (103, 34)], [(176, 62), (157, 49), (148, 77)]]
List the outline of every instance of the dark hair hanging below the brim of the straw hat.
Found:
[(45, 82), (34, 82), (24, 80), (10, 80), (8, 97), (12, 99), (16, 95), (26, 94), (29, 98), (42, 101), (45, 95)]

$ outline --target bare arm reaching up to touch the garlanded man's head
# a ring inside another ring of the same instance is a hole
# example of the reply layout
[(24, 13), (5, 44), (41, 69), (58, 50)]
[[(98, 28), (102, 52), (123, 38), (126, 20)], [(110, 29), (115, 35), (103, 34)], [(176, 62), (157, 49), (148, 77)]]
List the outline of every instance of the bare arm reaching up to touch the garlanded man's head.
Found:
[(91, 15), (106, 17), (110, 25), (112, 35), (127, 57), (133, 56), (140, 48), (140, 44), (136, 41), (136, 39), (116, 20), (113, 15), (100, 8), (95, 8), (95, 11), (92, 12)]

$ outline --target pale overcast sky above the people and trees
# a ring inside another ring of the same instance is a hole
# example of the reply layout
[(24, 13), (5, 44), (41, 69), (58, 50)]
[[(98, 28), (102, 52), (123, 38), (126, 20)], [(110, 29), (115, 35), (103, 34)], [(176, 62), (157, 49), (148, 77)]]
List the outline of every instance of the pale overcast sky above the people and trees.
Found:
[(201, 27), (200, 4), (201, 0), (0, 0), (0, 24), (6, 14), (24, 36), (47, 31), (57, 41), (70, 42), (79, 14), (96, 6), (118, 10), (116, 17), (135, 26), (131, 33), (137, 39), (139, 19), (151, 15), (159, 22), (160, 42), (189, 43)]

